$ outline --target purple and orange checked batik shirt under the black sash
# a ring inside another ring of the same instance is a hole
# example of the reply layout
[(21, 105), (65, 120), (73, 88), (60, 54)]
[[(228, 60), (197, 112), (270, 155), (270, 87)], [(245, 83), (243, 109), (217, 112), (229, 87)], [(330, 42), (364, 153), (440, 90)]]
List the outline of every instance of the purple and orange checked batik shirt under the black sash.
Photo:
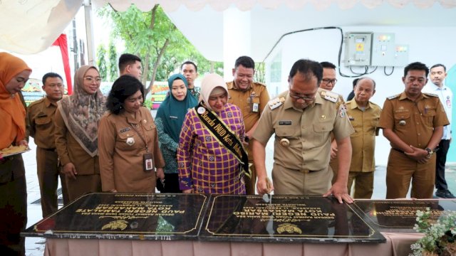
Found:
[[(227, 103), (218, 117), (241, 141), (244, 140), (244, 121), (239, 107)], [(209, 132), (195, 109), (185, 115), (177, 162), (182, 190), (245, 194), (239, 160)]]

